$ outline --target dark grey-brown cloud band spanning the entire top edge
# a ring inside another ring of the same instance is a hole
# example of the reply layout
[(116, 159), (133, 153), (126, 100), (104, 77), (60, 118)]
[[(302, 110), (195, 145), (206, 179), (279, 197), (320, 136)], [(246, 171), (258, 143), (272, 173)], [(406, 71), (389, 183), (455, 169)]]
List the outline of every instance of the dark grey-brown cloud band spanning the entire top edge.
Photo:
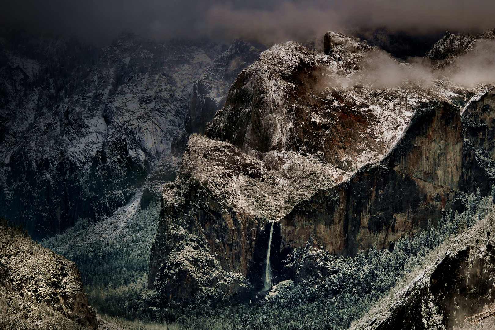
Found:
[(0, 24), (108, 39), (134, 31), (156, 37), (247, 37), (267, 43), (328, 30), (385, 26), (428, 33), (495, 27), (494, 1), (463, 0), (1, 0)]

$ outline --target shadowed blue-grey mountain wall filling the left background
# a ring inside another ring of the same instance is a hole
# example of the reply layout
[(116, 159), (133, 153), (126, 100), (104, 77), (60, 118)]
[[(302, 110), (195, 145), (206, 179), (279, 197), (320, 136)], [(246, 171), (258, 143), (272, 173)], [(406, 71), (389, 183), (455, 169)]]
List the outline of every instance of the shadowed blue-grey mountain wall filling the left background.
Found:
[(0, 213), (42, 238), (112, 214), (148, 182), (173, 180), (172, 141), (185, 131), (193, 85), (221, 98), (256, 51), (241, 41), (122, 35), (94, 47), (2, 35)]

